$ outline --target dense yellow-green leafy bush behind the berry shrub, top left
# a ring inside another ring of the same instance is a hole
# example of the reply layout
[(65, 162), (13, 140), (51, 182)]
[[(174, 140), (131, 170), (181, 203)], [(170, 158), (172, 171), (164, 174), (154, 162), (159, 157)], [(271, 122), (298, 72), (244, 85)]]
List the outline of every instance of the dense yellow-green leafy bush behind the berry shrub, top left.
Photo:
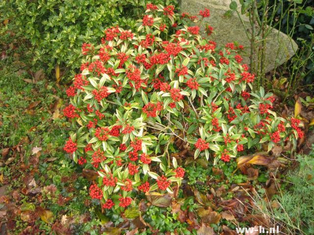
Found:
[(32, 63), (48, 73), (56, 65), (68, 73), (79, 66), (83, 42), (96, 42), (110, 25), (133, 29), (145, 6), (145, 0), (9, 0), (0, 2), (0, 14), (31, 42)]

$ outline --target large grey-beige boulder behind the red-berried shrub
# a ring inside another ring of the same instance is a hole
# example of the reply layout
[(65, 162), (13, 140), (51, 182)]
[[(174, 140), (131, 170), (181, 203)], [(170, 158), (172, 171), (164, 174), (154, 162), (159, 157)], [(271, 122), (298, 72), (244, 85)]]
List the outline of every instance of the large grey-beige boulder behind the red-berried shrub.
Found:
[[(214, 32), (209, 36), (209, 39), (215, 41), (218, 45), (225, 45), (235, 41), (243, 45), (246, 54), (246, 56), (243, 56), (243, 63), (249, 64), (251, 43), (246, 36), (240, 19), (236, 12), (231, 17), (224, 16), (226, 11), (230, 10), (230, 3), (231, 0), (180, 0), (181, 12), (197, 15), (200, 10), (208, 8), (210, 17), (205, 18), (204, 23), (208, 23), (214, 28)], [(240, 6), (239, 2), (237, 3)], [(245, 27), (251, 29), (248, 17), (245, 15), (241, 15), (241, 17)], [(208, 37), (207, 35), (204, 36)], [(297, 44), (287, 34), (272, 28), (266, 38), (264, 72), (271, 71), (285, 63), (295, 54), (297, 48)]]

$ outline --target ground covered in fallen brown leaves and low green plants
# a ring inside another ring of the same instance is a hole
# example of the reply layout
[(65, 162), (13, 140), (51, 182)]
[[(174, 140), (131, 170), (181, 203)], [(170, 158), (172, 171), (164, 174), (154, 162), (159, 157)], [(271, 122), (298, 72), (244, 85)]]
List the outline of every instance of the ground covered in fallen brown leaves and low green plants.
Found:
[[(236, 227), (260, 225), (278, 225), (286, 234), (314, 233), (308, 125), (307, 138), (299, 142), (308, 157), (297, 158), (287, 146), (247, 156), (239, 165), (194, 161), (194, 153), (174, 140), (181, 152), (172, 157), (186, 170), (174, 194), (142, 193), (138, 207), (120, 215), (95, 207), (88, 186), (97, 174), (79, 168), (62, 150), (72, 128), (61, 112), (68, 86), (33, 68), (31, 48), (13, 32), (1, 32), (0, 44), (1, 234), (232, 235)], [(296, 112), (306, 117), (313, 103), (303, 100)], [(294, 107), (278, 105), (282, 110), (288, 115)]]

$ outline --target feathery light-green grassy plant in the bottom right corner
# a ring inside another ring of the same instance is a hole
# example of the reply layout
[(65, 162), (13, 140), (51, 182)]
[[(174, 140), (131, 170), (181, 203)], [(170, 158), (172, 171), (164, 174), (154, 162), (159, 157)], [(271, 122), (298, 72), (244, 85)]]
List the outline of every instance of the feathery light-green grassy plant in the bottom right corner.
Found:
[[(271, 200), (256, 198), (256, 213), (262, 213), (288, 235), (314, 234), (314, 151), (298, 155), (298, 167), (281, 182), (282, 189)], [(265, 190), (259, 190), (264, 195)]]

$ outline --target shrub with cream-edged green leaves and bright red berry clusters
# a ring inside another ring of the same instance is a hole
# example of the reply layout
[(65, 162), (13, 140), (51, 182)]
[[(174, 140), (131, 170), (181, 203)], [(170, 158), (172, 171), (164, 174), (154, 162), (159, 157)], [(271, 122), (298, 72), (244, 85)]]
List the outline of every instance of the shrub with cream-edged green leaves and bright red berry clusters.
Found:
[(254, 75), (240, 64), (241, 46), (217, 47), (199, 26), (178, 26), (173, 10), (148, 4), (137, 32), (108, 28), (100, 45), (82, 46), (64, 109), (77, 131), (64, 150), (98, 172), (89, 190), (104, 209), (123, 210), (138, 191), (172, 193), (184, 169), (171, 154), (182, 148), (229, 162), (303, 135), (298, 119), (271, 111), (272, 94), (250, 92)]

